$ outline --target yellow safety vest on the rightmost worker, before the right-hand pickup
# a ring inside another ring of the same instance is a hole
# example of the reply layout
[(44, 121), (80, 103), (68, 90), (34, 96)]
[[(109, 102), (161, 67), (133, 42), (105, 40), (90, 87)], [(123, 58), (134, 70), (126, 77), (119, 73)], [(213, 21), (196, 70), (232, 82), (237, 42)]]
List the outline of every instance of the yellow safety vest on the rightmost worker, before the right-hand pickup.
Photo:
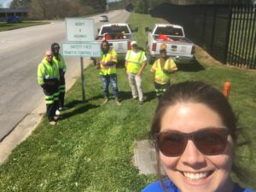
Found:
[(154, 72), (154, 81), (158, 84), (169, 83), (170, 73), (166, 73), (166, 72), (173, 72), (176, 70), (177, 70), (177, 66), (171, 58), (168, 58), (166, 60), (163, 68), (160, 65), (160, 59), (157, 59), (156, 61), (154, 61), (154, 64), (150, 69), (151, 72)]

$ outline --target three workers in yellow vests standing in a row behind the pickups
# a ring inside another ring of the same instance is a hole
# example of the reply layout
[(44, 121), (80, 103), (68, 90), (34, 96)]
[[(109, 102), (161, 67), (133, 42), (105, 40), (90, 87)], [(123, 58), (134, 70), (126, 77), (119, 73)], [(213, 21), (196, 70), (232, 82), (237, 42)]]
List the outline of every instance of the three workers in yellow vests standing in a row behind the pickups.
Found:
[[(117, 54), (113, 47), (110, 47), (107, 40), (102, 41), (101, 57), (96, 61), (102, 79), (103, 95), (109, 101), (109, 85), (112, 87), (113, 96), (117, 105), (119, 100), (119, 89), (117, 86), (116, 64)], [(142, 75), (147, 64), (147, 57), (143, 50), (138, 49), (136, 41), (131, 42), (131, 50), (125, 55), (125, 71), (131, 86), (131, 94), (134, 100), (143, 104)], [(175, 62), (166, 55), (166, 44), (160, 46), (160, 58), (154, 61), (150, 71), (154, 73), (154, 88), (156, 96), (160, 97), (170, 87), (170, 74), (177, 70)]]

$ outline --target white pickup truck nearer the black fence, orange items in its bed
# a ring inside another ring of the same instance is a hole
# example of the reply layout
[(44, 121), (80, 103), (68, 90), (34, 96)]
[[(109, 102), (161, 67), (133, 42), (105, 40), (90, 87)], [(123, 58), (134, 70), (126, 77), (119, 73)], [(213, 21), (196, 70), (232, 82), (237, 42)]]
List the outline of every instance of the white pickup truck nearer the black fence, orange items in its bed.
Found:
[(195, 61), (195, 44), (185, 38), (183, 27), (171, 24), (155, 24), (154, 29), (145, 28), (148, 32), (148, 61), (153, 62), (160, 55), (160, 45), (166, 44), (167, 55), (174, 61)]

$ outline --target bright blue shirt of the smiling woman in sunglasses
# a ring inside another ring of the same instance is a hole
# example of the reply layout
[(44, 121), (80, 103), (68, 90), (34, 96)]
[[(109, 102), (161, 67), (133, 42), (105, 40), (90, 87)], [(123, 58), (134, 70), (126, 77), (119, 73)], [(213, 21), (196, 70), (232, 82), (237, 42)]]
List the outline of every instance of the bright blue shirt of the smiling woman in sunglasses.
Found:
[[(161, 185), (160, 181), (148, 184), (146, 188), (143, 189), (143, 192), (181, 192), (177, 189), (176, 185), (172, 181), (165, 179), (164, 180), (166, 190)], [(233, 192), (254, 192), (252, 189), (244, 189), (237, 183), (235, 184), (235, 189)]]

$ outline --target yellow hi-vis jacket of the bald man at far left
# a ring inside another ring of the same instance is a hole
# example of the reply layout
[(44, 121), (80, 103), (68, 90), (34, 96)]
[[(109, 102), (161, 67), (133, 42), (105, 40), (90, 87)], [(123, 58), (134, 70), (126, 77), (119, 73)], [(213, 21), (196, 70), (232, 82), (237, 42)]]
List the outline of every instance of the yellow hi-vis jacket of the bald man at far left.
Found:
[(52, 61), (52, 65), (50, 65), (46, 58), (44, 58), (38, 65), (38, 84), (42, 85), (46, 80), (55, 81), (59, 79), (60, 75), (58, 65), (55, 61)]

